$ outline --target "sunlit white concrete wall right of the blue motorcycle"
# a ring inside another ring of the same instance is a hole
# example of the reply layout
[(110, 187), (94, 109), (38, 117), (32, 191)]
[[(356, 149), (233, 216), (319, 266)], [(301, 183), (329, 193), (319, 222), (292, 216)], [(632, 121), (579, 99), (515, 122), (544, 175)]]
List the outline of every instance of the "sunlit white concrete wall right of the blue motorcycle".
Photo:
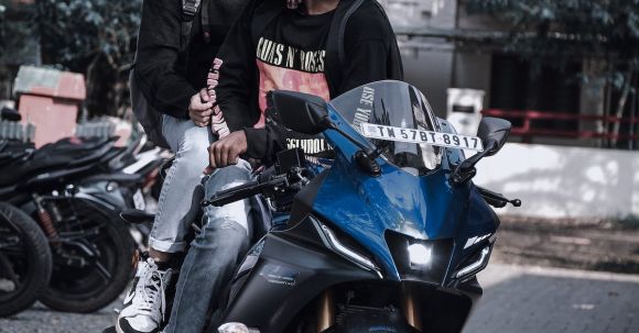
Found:
[(477, 185), (522, 200), (507, 214), (538, 218), (639, 217), (639, 154), (507, 144), (477, 166)]

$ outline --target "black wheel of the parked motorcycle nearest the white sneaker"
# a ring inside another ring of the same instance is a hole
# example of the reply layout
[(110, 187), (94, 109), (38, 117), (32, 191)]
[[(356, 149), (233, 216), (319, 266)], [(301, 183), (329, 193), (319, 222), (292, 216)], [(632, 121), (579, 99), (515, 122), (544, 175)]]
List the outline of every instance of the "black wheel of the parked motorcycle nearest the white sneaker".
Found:
[(56, 202), (64, 217), (52, 243), (53, 275), (40, 300), (57, 311), (88, 313), (111, 303), (131, 278), (134, 243), (119, 217), (94, 203)]

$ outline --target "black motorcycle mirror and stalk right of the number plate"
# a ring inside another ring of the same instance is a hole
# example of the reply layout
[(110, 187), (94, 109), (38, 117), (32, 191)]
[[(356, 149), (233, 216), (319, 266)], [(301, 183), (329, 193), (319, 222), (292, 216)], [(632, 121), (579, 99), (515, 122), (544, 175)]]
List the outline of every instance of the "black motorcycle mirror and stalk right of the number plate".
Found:
[(453, 185), (459, 185), (475, 177), (475, 174), (477, 173), (475, 165), (481, 158), (492, 156), (503, 147), (511, 127), (512, 125), (510, 122), (503, 119), (490, 116), (481, 119), (479, 129), (477, 130), (477, 136), (481, 140), (481, 143), (484, 143), (484, 151), (458, 164), (451, 175), (451, 182)]

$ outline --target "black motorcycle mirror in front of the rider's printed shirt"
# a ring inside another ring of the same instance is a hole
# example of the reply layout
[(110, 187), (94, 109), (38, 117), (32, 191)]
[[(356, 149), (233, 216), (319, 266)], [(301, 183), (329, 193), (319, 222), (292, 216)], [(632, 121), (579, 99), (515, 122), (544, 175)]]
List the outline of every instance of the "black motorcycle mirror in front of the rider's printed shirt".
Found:
[(295, 132), (314, 135), (331, 126), (326, 102), (317, 96), (274, 90), (267, 100), (275, 108), (279, 121)]

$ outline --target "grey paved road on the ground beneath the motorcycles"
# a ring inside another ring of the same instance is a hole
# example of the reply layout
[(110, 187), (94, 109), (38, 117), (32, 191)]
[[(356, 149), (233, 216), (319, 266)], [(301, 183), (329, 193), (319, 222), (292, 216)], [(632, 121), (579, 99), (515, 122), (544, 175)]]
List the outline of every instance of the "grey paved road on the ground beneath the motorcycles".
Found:
[[(479, 280), (485, 295), (465, 333), (639, 332), (637, 275), (491, 264)], [(68, 314), (35, 306), (1, 319), (0, 333), (99, 333), (113, 307)]]

